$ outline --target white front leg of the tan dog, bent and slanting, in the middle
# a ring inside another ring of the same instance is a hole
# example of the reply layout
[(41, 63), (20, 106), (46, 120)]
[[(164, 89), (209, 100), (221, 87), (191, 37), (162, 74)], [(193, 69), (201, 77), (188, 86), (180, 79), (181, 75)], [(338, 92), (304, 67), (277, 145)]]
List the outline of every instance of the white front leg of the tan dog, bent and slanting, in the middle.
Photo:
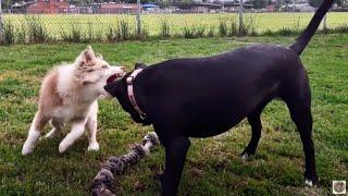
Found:
[(72, 131), (64, 137), (61, 144), (59, 144), (59, 152), (64, 152), (84, 134), (85, 124), (86, 121), (72, 124)]

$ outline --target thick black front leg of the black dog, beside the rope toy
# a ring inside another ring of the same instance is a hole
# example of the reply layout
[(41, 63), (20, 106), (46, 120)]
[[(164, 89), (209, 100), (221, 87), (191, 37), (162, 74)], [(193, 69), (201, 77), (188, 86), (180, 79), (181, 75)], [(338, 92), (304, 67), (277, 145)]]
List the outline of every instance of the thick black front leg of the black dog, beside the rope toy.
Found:
[(187, 137), (172, 138), (163, 144), (165, 148), (165, 170), (162, 179), (162, 195), (176, 195), (186, 154), (190, 146)]

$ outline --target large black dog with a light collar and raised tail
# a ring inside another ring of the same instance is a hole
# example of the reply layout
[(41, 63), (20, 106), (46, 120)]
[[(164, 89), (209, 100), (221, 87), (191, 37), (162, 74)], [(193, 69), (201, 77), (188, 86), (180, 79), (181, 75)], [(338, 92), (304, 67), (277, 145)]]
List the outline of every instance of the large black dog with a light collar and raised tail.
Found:
[(288, 48), (259, 45), (208, 58), (137, 64), (132, 74), (104, 87), (136, 122), (152, 124), (159, 135), (165, 148), (163, 195), (177, 193), (189, 137), (217, 135), (248, 118), (252, 137), (243, 156), (254, 154), (261, 135), (260, 114), (275, 98), (286, 102), (300, 133), (306, 183), (318, 182), (311, 91), (299, 56), (332, 3), (323, 2)]

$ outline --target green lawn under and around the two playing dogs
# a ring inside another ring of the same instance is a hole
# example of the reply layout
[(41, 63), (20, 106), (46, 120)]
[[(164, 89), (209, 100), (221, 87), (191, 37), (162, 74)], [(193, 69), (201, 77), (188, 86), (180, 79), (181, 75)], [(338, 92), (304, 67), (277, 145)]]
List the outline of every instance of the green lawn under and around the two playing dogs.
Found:
[[(288, 45), (294, 39), (172, 39), (92, 47), (109, 62), (132, 69), (138, 61), (204, 57), (256, 42)], [(0, 195), (87, 195), (90, 181), (110, 156), (125, 154), (152, 131), (151, 126), (134, 123), (116, 101), (101, 100), (98, 152), (87, 151), (86, 133), (63, 155), (58, 152), (62, 138), (42, 139), (33, 155), (21, 155), (37, 110), (40, 79), (52, 65), (73, 61), (85, 48), (83, 44), (0, 47)], [(348, 34), (333, 34), (315, 36), (302, 54), (312, 87), (318, 187), (303, 185), (299, 134), (285, 105), (273, 101), (262, 114), (263, 134), (258, 151), (248, 161), (238, 157), (250, 137), (246, 121), (226, 134), (191, 139), (179, 195), (328, 195), (333, 180), (348, 180), (347, 53)], [(48, 131), (47, 127), (45, 133)], [(159, 183), (151, 176), (163, 170), (163, 148), (159, 147), (117, 176), (113, 191), (120, 195), (158, 195)]]

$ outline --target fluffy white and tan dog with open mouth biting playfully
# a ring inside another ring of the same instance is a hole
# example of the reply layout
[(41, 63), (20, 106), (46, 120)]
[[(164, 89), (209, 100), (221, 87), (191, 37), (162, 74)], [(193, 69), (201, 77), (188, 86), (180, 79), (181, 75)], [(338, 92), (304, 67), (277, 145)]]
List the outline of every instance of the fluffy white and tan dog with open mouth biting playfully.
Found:
[(22, 154), (33, 152), (40, 137), (40, 131), (50, 121), (52, 130), (46, 135), (52, 138), (64, 123), (72, 131), (59, 145), (64, 152), (89, 130), (88, 150), (98, 150), (97, 112), (99, 96), (108, 95), (103, 86), (124, 75), (122, 66), (110, 66), (91, 47), (80, 53), (73, 64), (63, 64), (51, 70), (45, 77), (39, 97), (38, 111), (33, 120)]

